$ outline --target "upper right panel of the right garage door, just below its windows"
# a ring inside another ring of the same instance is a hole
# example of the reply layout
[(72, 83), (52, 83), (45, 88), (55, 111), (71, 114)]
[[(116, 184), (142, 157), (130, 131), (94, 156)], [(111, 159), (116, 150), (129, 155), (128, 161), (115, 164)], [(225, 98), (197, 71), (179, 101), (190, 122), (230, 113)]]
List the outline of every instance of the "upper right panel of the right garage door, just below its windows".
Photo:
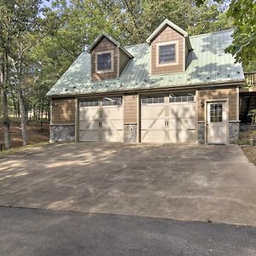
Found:
[(170, 118), (195, 118), (195, 103), (170, 104)]

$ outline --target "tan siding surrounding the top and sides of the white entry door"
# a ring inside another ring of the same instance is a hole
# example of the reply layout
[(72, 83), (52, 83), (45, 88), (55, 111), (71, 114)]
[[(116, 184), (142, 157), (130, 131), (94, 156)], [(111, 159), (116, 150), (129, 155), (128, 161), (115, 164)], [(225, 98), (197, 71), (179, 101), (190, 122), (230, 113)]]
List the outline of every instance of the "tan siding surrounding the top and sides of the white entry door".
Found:
[(198, 91), (198, 120), (205, 120), (205, 108), (201, 108), (201, 102), (205, 100), (229, 99), (229, 118), (236, 120), (236, 88), (218, 89), (218, 90), (199, 90)]

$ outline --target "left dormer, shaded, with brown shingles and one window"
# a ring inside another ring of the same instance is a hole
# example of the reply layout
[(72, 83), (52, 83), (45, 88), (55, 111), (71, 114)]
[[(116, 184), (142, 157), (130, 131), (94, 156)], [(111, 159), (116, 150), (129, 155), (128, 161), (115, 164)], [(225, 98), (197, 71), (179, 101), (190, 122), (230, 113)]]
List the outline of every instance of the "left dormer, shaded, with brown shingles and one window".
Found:
[(100, 34), (90, 45), (90, 77), (91, 80), (118, 79), (132, 55), (119, 42)]

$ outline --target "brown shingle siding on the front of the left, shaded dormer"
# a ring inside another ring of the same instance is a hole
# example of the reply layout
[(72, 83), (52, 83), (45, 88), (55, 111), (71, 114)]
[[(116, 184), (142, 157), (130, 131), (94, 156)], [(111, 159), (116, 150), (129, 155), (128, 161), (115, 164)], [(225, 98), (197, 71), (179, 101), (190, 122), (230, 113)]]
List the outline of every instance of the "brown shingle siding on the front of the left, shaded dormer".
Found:
[[(96, 52), (113, 50), (113, 72), (108, 73), (96, 73)], [(91, 79), (102, 80), (102, 79), (116, 79), (118, 77), (118, 48), (115, 44), (110, 42), (108, 38), (102, 38), (96, 48), (91, 52)]]

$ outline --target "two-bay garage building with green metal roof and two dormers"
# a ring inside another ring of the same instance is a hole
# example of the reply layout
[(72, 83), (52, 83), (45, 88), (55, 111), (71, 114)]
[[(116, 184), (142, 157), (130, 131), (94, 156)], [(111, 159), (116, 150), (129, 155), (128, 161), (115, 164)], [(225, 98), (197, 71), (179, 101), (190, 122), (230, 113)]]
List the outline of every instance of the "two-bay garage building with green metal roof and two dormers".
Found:
[(48, 92), (51, 142), (218, 143), (239, 136), (232, 31), (190, 36), (170, 20), (145, 44), (100, 34)]

